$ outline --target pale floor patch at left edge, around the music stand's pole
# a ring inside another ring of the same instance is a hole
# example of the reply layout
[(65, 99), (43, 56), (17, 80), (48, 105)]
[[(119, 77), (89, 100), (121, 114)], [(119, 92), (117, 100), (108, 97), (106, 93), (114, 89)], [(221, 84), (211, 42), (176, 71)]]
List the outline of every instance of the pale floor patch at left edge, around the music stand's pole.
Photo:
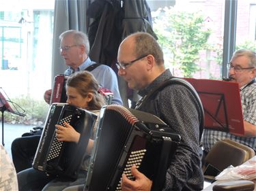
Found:
[[(1, 144), (3, 145), (5, 150), (8, 152), (10, 157), (12, 158), (12, 153), (11, 153), (11, 146), (12, 146), (12, 141), (16, 139), (16, 137), (20, 137), (23, 135), (23, 133), (29, 132), (33, 126), (32, 125), (23, 125), (23, 124), (6, 124), (4, 123), (2, 126), (2, 121), (1, 122)], [(3, 130), (3, 137), (2, 137), (2, 130)]]

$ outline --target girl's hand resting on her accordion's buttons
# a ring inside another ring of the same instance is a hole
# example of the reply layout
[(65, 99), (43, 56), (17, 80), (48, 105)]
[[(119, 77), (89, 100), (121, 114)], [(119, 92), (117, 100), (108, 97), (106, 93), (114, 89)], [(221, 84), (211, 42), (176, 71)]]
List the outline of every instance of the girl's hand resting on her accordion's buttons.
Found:
[(74, 128), (64, 122), (65, 126), (56, 124), (56, 137), (58, 141), (69, 141), (69, 142), (79, 142), (80, 133), (74, 130)]

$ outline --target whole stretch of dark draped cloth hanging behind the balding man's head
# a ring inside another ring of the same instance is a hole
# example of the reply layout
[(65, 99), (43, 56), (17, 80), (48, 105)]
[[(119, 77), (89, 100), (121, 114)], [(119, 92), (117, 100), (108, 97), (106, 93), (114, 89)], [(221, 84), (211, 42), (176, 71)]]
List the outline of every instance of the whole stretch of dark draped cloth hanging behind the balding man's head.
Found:
[[(115, 71), (117, 50), (122, 39), (137, 31), (156, 37), (152, 30), (150, 7), (145, 0), (96, 0), (89, 5), (87, 14), (94, 19), (88, 31), (91, 45), (89, 56)], [(136, 102), (139, 97), (137, 92), (128, 88), (122, 77), (118, 80), (124, 106), (128, 107), (128, 99)]]

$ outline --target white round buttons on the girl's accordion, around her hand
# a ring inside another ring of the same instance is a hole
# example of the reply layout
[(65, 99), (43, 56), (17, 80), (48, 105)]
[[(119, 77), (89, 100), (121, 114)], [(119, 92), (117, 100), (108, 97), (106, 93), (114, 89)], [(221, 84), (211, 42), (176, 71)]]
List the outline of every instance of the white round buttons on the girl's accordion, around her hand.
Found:
[[(70, 124), (71, 118), (72, 118), (72, 115), (69, 115), (69, 116), (66, 116), (65, 118), (62, 118), (59, 121), (59, 125), (65, 126), (64, 122), (67, 122), (68, 124)], [(57, 158), (59, 156), (59, 154), (61, 152), (62, 145), (63, 145), (63, 141), (58, 141), (57, 136), (55, 134), (55, 138), (53, 140), (53, 145), (52, 145), (51, 150), (48, 154), (47, 161), (53, 160), (53, 158)]]

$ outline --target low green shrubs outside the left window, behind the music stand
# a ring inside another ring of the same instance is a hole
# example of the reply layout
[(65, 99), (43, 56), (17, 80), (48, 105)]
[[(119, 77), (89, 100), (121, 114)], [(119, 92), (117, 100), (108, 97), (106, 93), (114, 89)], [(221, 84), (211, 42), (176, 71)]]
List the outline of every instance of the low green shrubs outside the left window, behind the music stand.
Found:
[[(4, 113), (4, 120), (8, 123), (18, 124), (33, 124), (42, 125), (48, 113), (49, 105), (45, 101), (34, 100), (30, 97), (20, 96), (12, 99), (21, 108), (25, 110), (25, 117), (11, 114), (10, 112)], [(20, 110), (19, 110), (20, 111)]]

